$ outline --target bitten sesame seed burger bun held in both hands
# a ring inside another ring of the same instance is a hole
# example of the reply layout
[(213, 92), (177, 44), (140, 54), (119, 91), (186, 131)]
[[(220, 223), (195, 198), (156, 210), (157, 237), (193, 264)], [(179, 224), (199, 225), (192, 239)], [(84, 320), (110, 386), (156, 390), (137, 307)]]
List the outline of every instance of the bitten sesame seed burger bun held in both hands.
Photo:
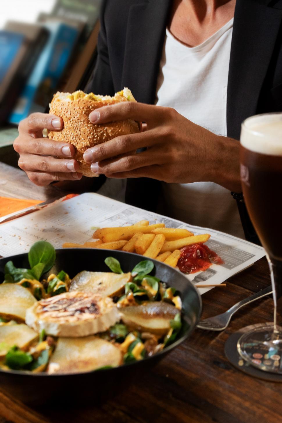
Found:
[(107, 125), (92, 124), (88, 116), (99, 107), (128, 101), (136, 101), (128, 88), (115, 93), (114, 97), (85, 94), (83, 91), (72, 94), (57, 92), (49, 104), (49, 113), (62, 118), (64, 125), (61, 131), (49, 131), (48, 137), (51, 140), (74, 145), (76, 148), (74, 159), (79, 162), (79, 172), (84, 176), (98, 176), (91, 172), (90, 164), (83, 160), (85, 150), (118, 135), (135, 134), (139, 132), (139, 127), (131, 119), (110, 122)]

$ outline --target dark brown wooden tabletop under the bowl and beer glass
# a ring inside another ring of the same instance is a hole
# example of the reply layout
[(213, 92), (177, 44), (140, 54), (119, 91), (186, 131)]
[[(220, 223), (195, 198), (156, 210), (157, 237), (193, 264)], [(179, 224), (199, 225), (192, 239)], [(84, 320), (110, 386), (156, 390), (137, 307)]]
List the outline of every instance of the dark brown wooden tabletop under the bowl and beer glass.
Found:
[[(15, 175), (15, 170), (9, 170)], [(4, 177), (9, 179), (4, 191), (0, 185), (0, 195), (5, 192), (5, 195), (18, 196), (21, 192), (14, 188), (24, 184), (34, 198), (34, 185), (20, 170), (17, 175), (20, 179), (12, 182), (7, 168), (0, 164), (0, 181)], [(48, 190), (46, 194), (46, 190), (36, 187), (42, 199), (44, 195), (52, 195), (52, 190), (57, 192), (53, 187)], [(231, 277), (226, 288), (214, 288), (204, 294), (202, 317), (222, 313), (268, 285), (268, 266), (263, 258)], [(272, 313), (273, 301), (265, 297), (239, 310), (223, 332), (195, 330), (191, 338), (150, 373), (99, 407), (76, 407), (70, 398), (69, 407), (65, 409), (54, 409), (52, 404), (35, 409), (0, 392), (0, 416), (3, 416), (0, 423), (281, 422), (282, 384), (247, 376), (234, 368), (224, 354), (225, 341), (233, 332), (249, 324), (271, 321)]]

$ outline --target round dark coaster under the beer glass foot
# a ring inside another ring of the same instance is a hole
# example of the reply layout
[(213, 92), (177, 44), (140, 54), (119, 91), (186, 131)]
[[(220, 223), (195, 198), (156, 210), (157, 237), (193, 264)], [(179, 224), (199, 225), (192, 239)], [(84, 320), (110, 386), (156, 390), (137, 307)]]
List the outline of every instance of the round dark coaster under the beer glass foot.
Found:
[[(266, 323), (263, 323), (262, 326), (266, 326)], [(252, 330), (253, 326), (244, 327), (238, 332), (233, 333), (225, 342), (225, 355), (230, 363), (235, 366), (237, 369), (241, 370), (249, 376), (255, 376), (268, 382), (282, 382), (282, 374), (270, 373), (267, 371), (260, 370), (256, 367), (253, 367), (247, 363), (237, 351), (237, 342), (239, 338), (246, 332)], [(258, 353), (254, 353), (254, 360), (258, 359)], [(260, 357), (263, 358), (263, 357)]]

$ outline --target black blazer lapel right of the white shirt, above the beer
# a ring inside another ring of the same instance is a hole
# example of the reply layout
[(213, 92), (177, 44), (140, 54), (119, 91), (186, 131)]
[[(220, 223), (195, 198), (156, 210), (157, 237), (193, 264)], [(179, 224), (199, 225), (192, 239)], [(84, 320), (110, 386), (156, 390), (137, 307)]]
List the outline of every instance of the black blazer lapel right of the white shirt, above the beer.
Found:
[(237, 0), (227, 88), (229, 137), (239, 139), (241, 122), (256, 113), (281, 20), (281, 10)]

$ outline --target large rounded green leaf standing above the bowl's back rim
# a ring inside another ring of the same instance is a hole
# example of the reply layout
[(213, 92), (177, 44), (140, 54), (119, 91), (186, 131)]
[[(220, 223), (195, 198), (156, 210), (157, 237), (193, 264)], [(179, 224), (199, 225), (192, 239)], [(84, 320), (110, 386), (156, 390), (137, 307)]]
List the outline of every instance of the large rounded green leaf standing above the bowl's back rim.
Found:
[(48, 272), (55, 262), (55, 248), (47, 241), (38, 241), (30, 248), (28, 261), (33, 268), (38, 263), (44, 263), (42, 273)]

